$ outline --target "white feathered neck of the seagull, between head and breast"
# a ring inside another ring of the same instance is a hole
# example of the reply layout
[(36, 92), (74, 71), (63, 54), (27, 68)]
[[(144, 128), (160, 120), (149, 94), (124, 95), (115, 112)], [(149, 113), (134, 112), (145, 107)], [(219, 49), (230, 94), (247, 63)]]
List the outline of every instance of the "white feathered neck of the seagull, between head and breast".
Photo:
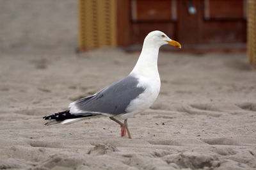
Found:
[(152, 43), (143, 43), (140, 58), (131, 73), (146, 77), (159, 77), (157, 68), (159, 46)]

